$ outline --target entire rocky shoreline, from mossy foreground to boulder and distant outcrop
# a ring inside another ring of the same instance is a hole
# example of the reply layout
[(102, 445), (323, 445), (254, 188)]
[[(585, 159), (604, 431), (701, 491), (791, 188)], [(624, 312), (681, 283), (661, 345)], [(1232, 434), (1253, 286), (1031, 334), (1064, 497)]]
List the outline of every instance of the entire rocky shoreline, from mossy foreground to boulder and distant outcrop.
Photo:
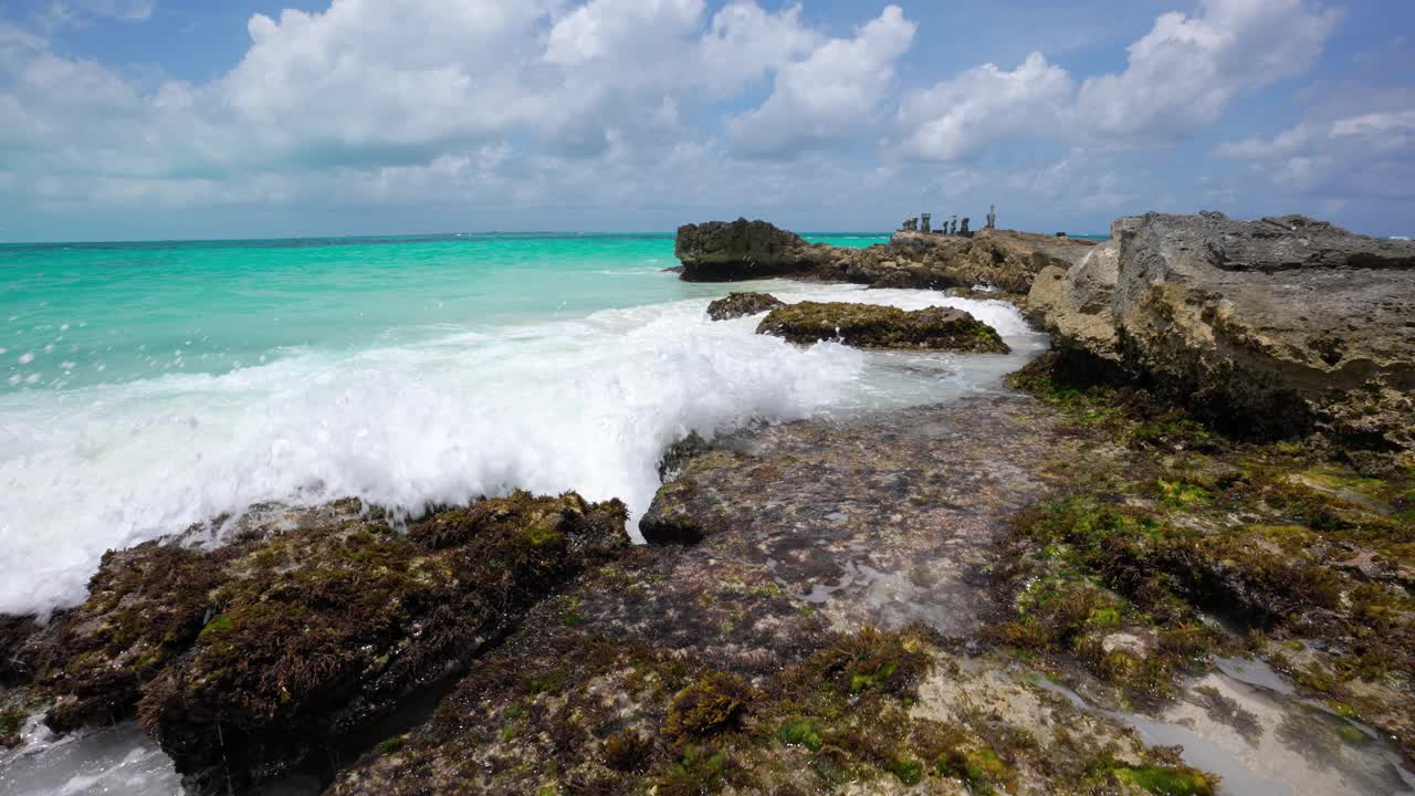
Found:
[[(739, 220), (678, 255), (986, 290), (1054, 351), (996, 395), (691, 440), (641, 547), (617, 501), (516, 493), (110, 552), (83, 605), (0, 618), (0, 745), (136, 717), (195, 793), (1415, 782), (1415, 245), (1150, 214), (869, 249)], [(1002, 344), (944, 307), (724, 302), (801, 343)]]

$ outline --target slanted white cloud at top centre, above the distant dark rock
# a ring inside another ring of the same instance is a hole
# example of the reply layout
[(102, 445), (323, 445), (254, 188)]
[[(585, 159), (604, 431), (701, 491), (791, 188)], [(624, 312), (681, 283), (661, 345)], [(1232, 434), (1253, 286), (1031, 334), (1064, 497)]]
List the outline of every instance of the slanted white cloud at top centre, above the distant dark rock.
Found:
[(781, 67), (767, 101), (729, 122), (737, 150), (790, 154), (849, 136), (872, 119), (916, 27), (899, 6), (887, 6), (855, 38), (833, 38)]

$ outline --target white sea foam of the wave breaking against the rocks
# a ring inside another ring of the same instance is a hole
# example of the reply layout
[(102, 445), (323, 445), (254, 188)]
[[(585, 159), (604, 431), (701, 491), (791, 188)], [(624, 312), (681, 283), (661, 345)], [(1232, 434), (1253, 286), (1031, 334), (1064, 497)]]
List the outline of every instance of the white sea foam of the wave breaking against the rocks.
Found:
[[(787, 300), (949, 303), (1005, 337), (1029, 334), (999, 302), (770, 288)], [(573, 489), (591, 500), (620, 497), (638, 516), (658, 487), (664, 448), (689, 431), (710, 436), (754, 419), (899, 401), (870, 390), (869, 373), (882, 361), (887, 370), (879, 354), (792, 346), (754, 334), (757, 319), (713, 323), (705, 303), (603, 310), (491, 334), (389, 334), (354, 353), (289, 350), (219, 375), (3, 395), (0, 612), (76, 603), (106, 550), (259, 500), (354, 494), (416, 514), (514, 487)], [(993, 363), (986, 380), (1000, 373), (998, 358), (976, 361)], [(930, 384), (962, 373), (944, 370)]]

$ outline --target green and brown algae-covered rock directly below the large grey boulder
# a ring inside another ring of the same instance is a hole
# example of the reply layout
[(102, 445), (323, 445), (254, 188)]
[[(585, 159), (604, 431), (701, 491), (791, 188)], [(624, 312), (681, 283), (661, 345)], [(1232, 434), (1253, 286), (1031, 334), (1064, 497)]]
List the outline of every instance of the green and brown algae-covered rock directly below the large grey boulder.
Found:
[(1257, 653), (1415, 759), (1415, 473), (1200, 432), (1064, 363), (1013, 382), (1073, 416), (1090, 452), (1058, 463), (1068, 484), (1002, 541), (1012, 618), (993, 637), (1080, 660), (1142, 701), (1215, 652)]

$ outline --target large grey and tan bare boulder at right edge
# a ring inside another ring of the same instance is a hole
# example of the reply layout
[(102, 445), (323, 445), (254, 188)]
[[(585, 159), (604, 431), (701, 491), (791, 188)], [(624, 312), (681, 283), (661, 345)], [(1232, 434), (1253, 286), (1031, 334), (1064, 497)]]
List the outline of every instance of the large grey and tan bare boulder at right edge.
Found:
[(1415, 244), (1150, 212), (1044, 269), (1027, 305), (1077, 363), (1228, 429), (1415, 450)]

